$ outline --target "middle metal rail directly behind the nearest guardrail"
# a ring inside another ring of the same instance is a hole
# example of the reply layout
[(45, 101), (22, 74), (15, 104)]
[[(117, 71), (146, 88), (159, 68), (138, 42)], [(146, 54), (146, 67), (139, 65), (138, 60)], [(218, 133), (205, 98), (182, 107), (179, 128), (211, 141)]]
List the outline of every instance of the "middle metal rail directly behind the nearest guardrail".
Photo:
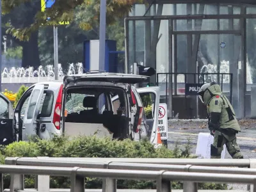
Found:
[[(72, 159), (72, 158), (71, 158)], [(179, 164), (150, 164), (150, 163), (122, 163), (113, 161), (76, 161), (66, 158), (66, 160), (58, 160), (44, 158), (44, 159), (29, 159), (26, 157), (7, 157), (5, 159), (6, 164), (27, 165), (27, 166), (56, 166), (56, 167), (74, 167), (79, 166), (82, 168), (107, 168), (116, 170), (166, 170), (172, 172), (198, 172), (198, 173), (229, 173), (229, 174), (245, 174), (256, 175), (256, 169), (248, 168), (232, 168), (220, 167), (220, 166), (197, 166), (191, 164), (179, 165)], [(233, 159), (228, 159), (233, 160)], [(232, 164), (232, 166), (234, 166)]]

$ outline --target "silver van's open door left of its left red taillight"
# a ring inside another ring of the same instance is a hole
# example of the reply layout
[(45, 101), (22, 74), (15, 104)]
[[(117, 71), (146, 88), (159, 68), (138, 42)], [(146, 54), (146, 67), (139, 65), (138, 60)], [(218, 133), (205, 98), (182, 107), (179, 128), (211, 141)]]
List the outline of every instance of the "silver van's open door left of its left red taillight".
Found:
[(39, 113), (40, 102), (44, 94), (44, 84), (36, 84), (28, 99), (28, 106), (24, 114), (22, 125), (22, 140), (28, 136), (36, 136), (36, 118)]

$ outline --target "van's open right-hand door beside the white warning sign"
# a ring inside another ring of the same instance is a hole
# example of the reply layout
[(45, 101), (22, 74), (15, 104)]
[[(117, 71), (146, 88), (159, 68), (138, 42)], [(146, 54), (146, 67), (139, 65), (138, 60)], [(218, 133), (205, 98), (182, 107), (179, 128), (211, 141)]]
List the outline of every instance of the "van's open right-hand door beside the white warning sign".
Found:
[[(157, 125), (158, 125), (158, 109), (159, 109), (159, 101), (160, 101), (160, 95), (159, 95), (160, 88), (158, 86), (151, 86), (151, 87), (145, 87), (145, 88), (137, 88), (136, 90), (140, 94), (141, 100), (143, 100), (143, 97), (149, 96), (151, 97), (150, 99), (153, 101), (152, 116), (150, 116), (150, 118), (147, 118), (147, 124), (149, 126), (150, 143), (152, 143), (153, 145), (157, 145)], [(148, 107), (148, 106), (144, 106), (144, 107)]]

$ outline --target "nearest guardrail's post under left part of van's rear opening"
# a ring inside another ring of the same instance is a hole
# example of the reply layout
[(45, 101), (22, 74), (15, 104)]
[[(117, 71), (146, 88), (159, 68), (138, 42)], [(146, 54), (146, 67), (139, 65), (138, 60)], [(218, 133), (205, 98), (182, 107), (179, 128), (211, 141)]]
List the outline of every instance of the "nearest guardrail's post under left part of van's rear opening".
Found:
[(71, 173), (70, 192), (84, 192), (84, 177), (76, 175), (79, 167), (74, 167)]

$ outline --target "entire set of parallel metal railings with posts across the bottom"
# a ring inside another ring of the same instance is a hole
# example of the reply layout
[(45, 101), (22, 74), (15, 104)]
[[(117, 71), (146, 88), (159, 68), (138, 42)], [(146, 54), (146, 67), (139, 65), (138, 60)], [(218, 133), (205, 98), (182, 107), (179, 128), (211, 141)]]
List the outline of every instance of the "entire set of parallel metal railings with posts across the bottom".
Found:
[(10, 192), (26, 191), (24, 174), (38, 175), (35, 187), (38, 191), (50, 191), (49, 175), (70, 177), (71, 192), (84, 192), (84, 177), (103, 178), (105, 192), (116, 191), (116, 179), (156, 180), (157, 192), (170, 191), (173, 180), (184, 181), (184, 192), (198, 191), (198, 182), (251, 184), (248, 189), (256, 191), (255, 159), (8, 157), (5, 163), (8, 165), (0, 165), (0, 173), (12, 173)]

